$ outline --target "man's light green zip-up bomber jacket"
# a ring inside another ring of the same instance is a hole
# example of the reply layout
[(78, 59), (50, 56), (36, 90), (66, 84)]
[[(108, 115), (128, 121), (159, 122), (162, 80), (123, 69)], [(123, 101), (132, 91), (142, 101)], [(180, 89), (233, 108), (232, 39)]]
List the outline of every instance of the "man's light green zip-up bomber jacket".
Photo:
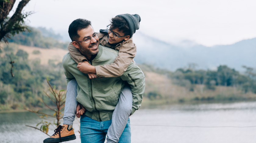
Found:
[[(91, 65), (106, 65), (114, 62), (118, 51), (101, 45), (98, 48), (99, 52), (90, 62)], [(134, 62), (131, 62), (124, 74), (119, 77), (93, 79), (76, 68), (77, 63), (69, 53), (63, 56), (62, 65), (67, 83), (76, 78), (78, 83), (76, 100), (85, 107), (85, 115), (88, 117), (97, 121), (111, 120), (126, 81), (131, 86), (133, 94), (131, 114), (139, 109), (145, 90), (145, 76)]]

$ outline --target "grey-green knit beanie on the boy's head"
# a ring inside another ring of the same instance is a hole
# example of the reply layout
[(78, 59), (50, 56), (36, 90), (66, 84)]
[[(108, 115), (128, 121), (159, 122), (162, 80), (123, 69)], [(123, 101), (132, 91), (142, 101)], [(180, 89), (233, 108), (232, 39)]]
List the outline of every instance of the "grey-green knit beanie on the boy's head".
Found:
[(126, 20), (130, 28), (130, 38), (133, 37), (136, 30), (140, 28), (140, 15), (121, 14), (116, 16), (123, 17)]

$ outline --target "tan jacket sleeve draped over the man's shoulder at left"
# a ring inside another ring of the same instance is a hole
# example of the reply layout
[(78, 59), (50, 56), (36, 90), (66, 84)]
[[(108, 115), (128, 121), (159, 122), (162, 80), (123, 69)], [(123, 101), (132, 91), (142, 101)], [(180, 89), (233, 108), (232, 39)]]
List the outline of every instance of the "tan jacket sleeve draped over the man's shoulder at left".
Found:
[(68, 50), (69, 50), (69, 55), (70, 57), (78, 64), (79, 62), (83, 62), (83, 60), (87, 60), (87, 58), (85, 58), (85, 56), (83, 56), (81, 54), (81, 52), (78, 50), (78, 48), (76, 48), (72, 42), (69, 43), (68, 45)]

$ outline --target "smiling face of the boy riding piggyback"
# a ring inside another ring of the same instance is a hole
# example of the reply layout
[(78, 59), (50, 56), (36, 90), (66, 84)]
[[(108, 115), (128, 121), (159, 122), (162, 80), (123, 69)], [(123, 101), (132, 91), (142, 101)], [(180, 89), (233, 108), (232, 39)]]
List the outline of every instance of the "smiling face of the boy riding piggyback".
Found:
[(115, 38), (113, 36), (113, 32), (115, 32), (118, 36), (124, 36), (124, 33), (123, 33), (123, 30), (119, 31), (118, 28), (115, 28), (112, 30), (112, 32), (108, 32), (108, 43), (110, 44), (115, 44), (115, 43), (119, 43), (123, 40), (128, 40), (130, 38), (130, 35), (128, 36), (124, 36), (124, 37), (118, 37), (118, 38)]

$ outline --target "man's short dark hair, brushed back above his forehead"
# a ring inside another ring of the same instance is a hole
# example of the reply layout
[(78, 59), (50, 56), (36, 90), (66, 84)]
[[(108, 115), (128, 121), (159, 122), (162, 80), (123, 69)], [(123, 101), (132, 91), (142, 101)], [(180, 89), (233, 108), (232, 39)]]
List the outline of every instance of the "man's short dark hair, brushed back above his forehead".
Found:
[(91, 21), (86, 19), (76, 19), (69, 25), (69, 37), (72, 41), (77, 41), (80, 37), (77, 33), (77, 31), (87, 28), (89, 25), (91, 25)]

